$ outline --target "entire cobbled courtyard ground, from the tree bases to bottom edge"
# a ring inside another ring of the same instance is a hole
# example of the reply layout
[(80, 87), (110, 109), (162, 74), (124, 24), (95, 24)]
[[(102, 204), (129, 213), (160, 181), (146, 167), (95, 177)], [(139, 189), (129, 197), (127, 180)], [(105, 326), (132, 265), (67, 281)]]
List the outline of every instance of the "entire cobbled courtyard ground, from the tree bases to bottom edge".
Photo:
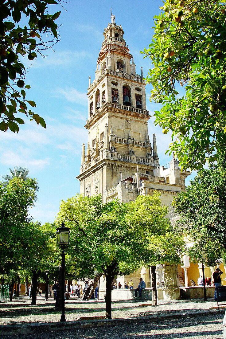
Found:
[[(131, 300), (112, 302), (112, 320), (92, 320), (92, 317), (105, 316), (105, 302), (82, 301), (75, 297), (66, 301), (66, 325), (73, 330), (63, 331), (64, 323), (59, 323), (60, 312), (53, 310), (54, 300), (37, 298), (37, 305), (31, 306), (27, 297), (13, 298), (12, 303), (0, 304), (0, 337), (2, 338), (223, 338), (222, 322), (224, 307), (216, 310), (217, 303), (210, 299), (179, 300), (152, 306), (151, 301)], [(117, 320), (116, 322), (116, 319)], [(48, 327), (50, 324), (52, 327)], [(55, 324), (55, 325), (54, 325)], [(58, 326), (59, 324), (59, 326)], [(72, 324), (72, 325), (71, 325)], [(78, 327), (75, 329), (75, 325)], [(7, 325), (7, 326), (5, 326)], [(62, 326), (61, 326), (62, 325)], [(43, 327), (43, 326), (46, 326)], [(58, 326), (58, 327), (57, 327)], [(61, 326), (61, 331), (60, 327)], [(87, 328), (88, 327), (88, 328)], [(100, 328), (101, 327), (101, 328)], [(16, 330), (13, 335), (4, 330)], [(21, 328), (24, 331), (21, 332)], [(33, 330), (32, 330), (33, 328)], [(18, 332), (19, 329), (19, 332)], [(3, 331), (2, 331), (3, 330)], [(54, 331), (53, 331), (54, 330)], [(43, 333), (42, 331), (50, 331)], [(33, 332), (31, 334), (26, 334)]]

